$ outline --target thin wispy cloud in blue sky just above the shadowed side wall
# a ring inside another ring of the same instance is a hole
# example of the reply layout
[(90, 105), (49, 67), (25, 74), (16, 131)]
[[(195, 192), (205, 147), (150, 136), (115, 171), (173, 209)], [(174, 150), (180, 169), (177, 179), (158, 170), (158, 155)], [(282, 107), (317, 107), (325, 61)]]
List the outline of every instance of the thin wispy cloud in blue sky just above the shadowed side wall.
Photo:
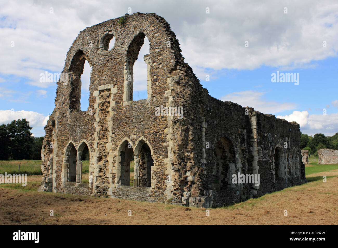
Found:
[(230, 101), (238, 103), (242, 107), (252, 107), (262, 113), (278, 113), (285, 110), (295, 109), (297, 104), (295, 103), (279, 103), (276, 101), (266, 100), (263, 95), (266, 92), (260, 92), (255, 90), (246, 90), (240, 92), (233, 92), (221, 97), (222, 101)]

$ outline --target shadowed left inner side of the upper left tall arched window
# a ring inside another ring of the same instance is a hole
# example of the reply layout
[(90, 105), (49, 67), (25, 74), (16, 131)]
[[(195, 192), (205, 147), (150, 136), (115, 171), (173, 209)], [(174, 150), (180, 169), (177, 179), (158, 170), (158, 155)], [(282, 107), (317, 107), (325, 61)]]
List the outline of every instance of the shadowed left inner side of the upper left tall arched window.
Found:
[(70, 83), (69, 94), (69, 109), (72, 111), (80, 111), (80, 99), (81, 99), (81, 75), (83, 74), (84, 63), (86, 60), (91, 65), (88, 57), (84, 52), (78, 49), (70, 62), (68, 74)]

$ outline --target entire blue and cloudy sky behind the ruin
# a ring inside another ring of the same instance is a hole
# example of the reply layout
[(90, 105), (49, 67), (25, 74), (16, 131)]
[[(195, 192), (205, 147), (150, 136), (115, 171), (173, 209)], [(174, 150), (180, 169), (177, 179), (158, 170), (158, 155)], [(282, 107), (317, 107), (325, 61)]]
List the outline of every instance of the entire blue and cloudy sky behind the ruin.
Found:
[[(335, 1), (103, 2), (104, 9), (95, 1), (0, 3), (0, 124), (26, 118), (34, 136), (44, 136), (56, 83), (40, 82), (40, 74), (62, 71), (79, 31), (140, 11), (167, 20), (185, 61), (213, 97), (297, 121), (309, 135), (338, 132)], [(149, 53), (148, 44), (146, 40), (134, 66), (136, 100), (138, 93), (146, 95), (143, 55)], [(299, 85), (271, 82), (277, 71), (299, 74)], [(86, 63), (81, 109), (88, 106), (89, 75)]]

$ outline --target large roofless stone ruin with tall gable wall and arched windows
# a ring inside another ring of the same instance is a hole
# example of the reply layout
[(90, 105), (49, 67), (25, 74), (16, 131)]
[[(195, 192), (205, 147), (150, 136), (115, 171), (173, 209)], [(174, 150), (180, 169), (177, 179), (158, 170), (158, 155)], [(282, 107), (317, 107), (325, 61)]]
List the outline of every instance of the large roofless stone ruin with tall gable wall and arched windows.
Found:
[[(147, 99), (135, 101), (133, 65), (145, 37)], [(211, 97), (180, 52), (169, 24), (154, 13), (126, 14), (81, 31), (45, 127), (39, 190), (209, 208), (306, 182), (298, 123)], [(89, 107), (81, 111), (86, 60)], [(90, 175), (83, 182), (87, 148)], [(250, 176), (234, 183), (234, 174), (259, 174), (260, 183)]]

